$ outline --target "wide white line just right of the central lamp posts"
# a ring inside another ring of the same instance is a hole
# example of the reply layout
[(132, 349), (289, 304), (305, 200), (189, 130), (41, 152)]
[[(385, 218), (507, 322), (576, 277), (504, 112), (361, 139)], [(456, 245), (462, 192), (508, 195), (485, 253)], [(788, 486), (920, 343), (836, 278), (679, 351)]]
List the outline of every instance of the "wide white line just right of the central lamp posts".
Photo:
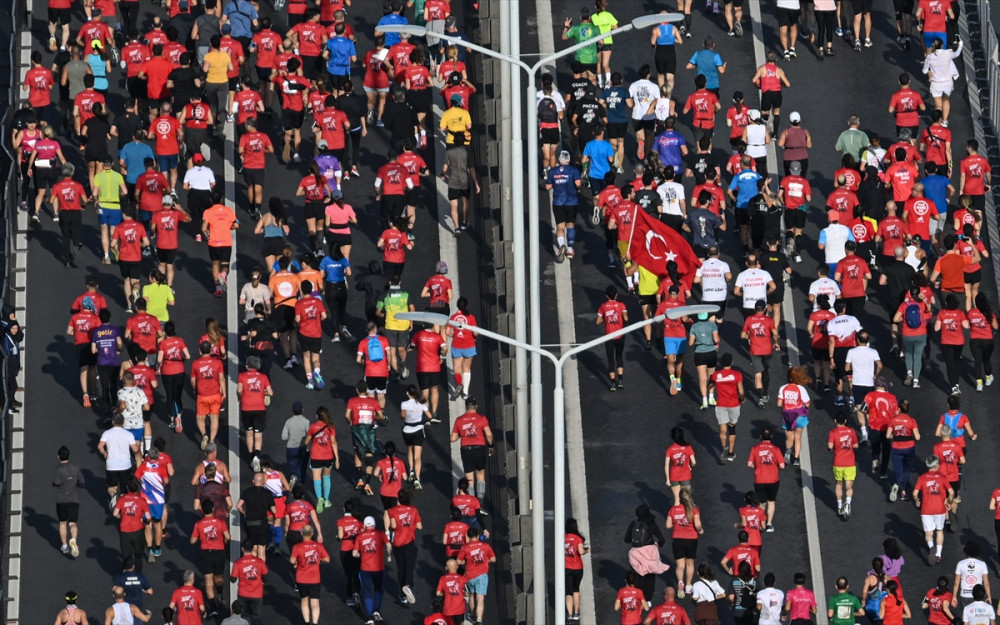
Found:
[[(548, 56), (555, 52), (555, 37), (552, 24), (552, 3), (550, 0), (538, 0), (535, 3), (538, 16), (538, 52)], [(550, 65), (543, 71), (551, 69)], [(527, 102), (526, 106), (534, 106)], [(529, 128), (527, 132), (534, 132)], [(529, 171), (527, 184), (538, 184), (538, 172)], [(552, 197), (549, 196), (549, 206)], [(551, 210), (551, 209), (550, 209)], [(553, 217), (550, 223), (555, 223)], [(529, 241), (529, 245), (540, 245), (539, 241)], [(546, 261), (548, 262), (548, 261)], [(555, 263), (556, 276), (556, 308), (559, 321), (559, 342), (563, 345), (576, 343), (575, 315), (573, 313), (573, 275), (571, 262)], [(569, 473), (569, 496), (572, 517), (577, 520), (580, 532), (590, 535), (590, 503), (587, 499), (587, 468), (583, 450), (583, 408), (580, 404), (580, 373), (576, 359), (570, 359), (565, 365), (563, 376), (563, 391), (566, 397), (564, 410), (566, 413), (566, 469)], [(559, 445), (559, 441), (554, 444)], [(557, 478), (562, 476), (556, 476)], [(535, 545), (536, 549), (541, 548)], [(545, 547), (548, 548), (547, 546)], [(536, 581), (537, 583), (537, 581)], [(563, 598), (553, 598), (555, 610), (563, 610)], [(596, 623), (597, 608), (594, 605), (594, 567), (590, 554), (583, 556), (583, 580), (580, 582), (580, 622)]]

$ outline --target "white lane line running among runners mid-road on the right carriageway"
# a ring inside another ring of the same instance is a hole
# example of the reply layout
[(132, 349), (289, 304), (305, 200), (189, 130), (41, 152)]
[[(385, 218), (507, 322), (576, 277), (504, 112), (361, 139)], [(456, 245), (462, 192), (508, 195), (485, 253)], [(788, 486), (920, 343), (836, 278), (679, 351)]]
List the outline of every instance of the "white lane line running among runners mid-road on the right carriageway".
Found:
[[(753, 51), (757, 67), (764, 64), (764, 28), (761, 22), (760, 0), (750, 0), (750, 19), (753, 21)], [(778, 171), (778, 158), (775, 150), (776, 137), (772, 137), (767, 146), (767, 170), (781, 179)], [(785, 289), (785, 299), (781, 302), (782, 321), (788, 324), (785, 349), (788, 352), (788, 366), (798, 366), (801, 351), (798, 347), (798, 329), (795, 326), (795, 305), (792, 301), (792, 290)], [(802, 434), (802, 452), (799, 456), (802, 475), (802, 506), (805, 512), (806, 538), (809, 543), (809, 570), (812, 575), (811, 587), (816, 594), (816, 604), (820, 610), (816, 613), (816, 624), (827, 625), (826, 581), (823, 577), (823, 556), (819, 542), (819, 520), (816, 516), (816, 496), (813, 492), (812, 457), (809, 454), (808, 428)]]

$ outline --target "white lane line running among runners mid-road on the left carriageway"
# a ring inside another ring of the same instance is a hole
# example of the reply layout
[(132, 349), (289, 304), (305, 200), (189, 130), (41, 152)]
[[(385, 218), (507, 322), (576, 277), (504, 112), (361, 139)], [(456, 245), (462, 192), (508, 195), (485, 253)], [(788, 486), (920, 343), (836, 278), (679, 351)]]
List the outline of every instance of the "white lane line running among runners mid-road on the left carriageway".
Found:
[[(225, 134), (223, 136), (223, 141), (225, 143), (224, 155), (225, 161), (223, 163), (222, 176), (225, 179), (225, 202), (226, 206), (236, 210), (236, 167), (233, 165), (235, 162), (234, 153), (236, 151), (234, 145), (235, 129), (234, 124), (225, 125)], [(243, 225), (240, 225), (243, 227)], [(227, 384), (228, 387), (228, 402), (226, 415), (227, 427), (226, 431), (229, 433), (228, 445), (229, 445), (229, 475), (232, 477), (232, 483), (229, 485), (229, 494), (233, 498), (233, 501), (238, 501), (240, 498), (240, 473), (242, 470), (242, 465), (240, 463), (240, 427), (239, 427), (239, 415), (240, 415), (240, 402), (239, 398), (236, 396), (236, 379), (240, 372), (240, 317), (239, 317), (239, 301), (237, 289), (239, 286), (239, 277), (237, 271), (239, 266), (237, 264), (237, 251), (236, 242), (239, 237), (236, 236), (234, 231), (233, 237), (233, 255), (229, 261), (229, 274), (226, 276), (226, 327), (228, 332), (226, 350), (228, 351), (229, 359), (227, 362), (226, 376), (228, 377)], [(240, 526), (240, 518), (238, 513), (233, 510), (232, 522), (229, 524), (229, 534), (232, 536), (232, 540), (229, 543), (229, 557), (230, 562), (236, 562), (242, 555), (240, 551), (240, 543), (243, 540), (242, 537), (242, 527)], [(237, 591), (237, 583), (229, 583), (229, 596), (235, 597)]]

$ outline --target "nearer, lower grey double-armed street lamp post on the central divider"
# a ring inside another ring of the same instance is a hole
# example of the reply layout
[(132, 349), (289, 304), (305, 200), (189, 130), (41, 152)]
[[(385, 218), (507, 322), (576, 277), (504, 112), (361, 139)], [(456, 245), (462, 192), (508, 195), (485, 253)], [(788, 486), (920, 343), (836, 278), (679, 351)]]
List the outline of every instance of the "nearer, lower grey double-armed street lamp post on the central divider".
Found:
[[(553, 545), (552, 545), (552, 557), (554, 558), (554, 583), (555, 583), (555, 624), (556, 625), (566, 625), (566, 612), (561, 609), (562, 597), (566, 595), (566, 560), (565, 555), (565, 542), (566, 542), (566, 411), (565, 411), (565, 390), (563, 388), (563, 366), (570, 358), (573, 358), (581, 352), (585, 352), (593, 347), (602, 345), (608, 341), (612, 341), (619, 337), (625, 336), (630, 332), (634, 332), (639, 328), (643, 328), (654, 323), (659, 323), (666, 318), (670, 319), (680, 319), (681, 317), (687, 317), (692, 315), (697, 315), (699, 313), (714, 313), (719, 310), (719, 307), (714, 304), (695, 304), (691, 306), (678, 306), (677, 308), (671, 308), (663, 315), (657, 315), (650, 319), (645, 319), (630, 325), (625, 326), (620, 330), (616, 330), (604, 336), (600, 336), (586, 343), (582, 343), (575, 347), (572, 347), (561, 355), (557, 356), (553, 352), (542, 349), (535, 345), (529, 345), (512, 339), (503, 334), (497, 332), (492, 332), (479, 326), (470, 326), (465, 323), (459, 323), (457, 321), (452, 321), (448, 318), (448, 315), (441, 313), (431, 313), (431, 312), (407, 312), (399, 313), (396, 315), (397, 319), (402, 319), (406, 321), (417, 321), (422, 323), (430, 323), (434, 325), (441, 326), (451, 326), (460, 330), (468, 330), (480, 336), (499, 341), (501, 343), (506, 343), (513, 347), (523, 349), (525, 351), (531, 352), (533, 356), (537, 356), (539, 361), (544, 356), (549, 359), (555, 366), (555, 386), (552, 389), (552, 439), (553, 439), (553, 463), (552, 463), (552, 492), (553, 492)], [(534, 370), (534, 376), (536, 379), (541, 379), (537, 370)], [(540, 404), (541, 402), (539, 402)], [(532, 405), (532, 412), (540, 412), (540, 405)], [(539, 427), (539, 429), (541, 429)], [(542, 453), (541, 447), (532, 450), (532, 462), (536, 460), (541, 464)], [(541, 473), (541, 470), (539, 470)], [(532, 475), (534, 478), (534, 474)], [(536, 504), (537, 506), (537, 504)], [(535, 512), (537, 508), (533, 509)], [(543, 519), (544, 522), (544, 519)], [(535, 541), (535, 552), (542, 552), (542, 570), (541, 572), (535, 571), (535, 622), (544, 623), (545, 622), (545, 604), (541, 598), (539, 592), (539, 585), (544, 588), (545, 579), (545, 562), (544, 562), (544, 549), (540, 548), (544, 545), (544, 530), (543, 525), (534, 525), (532, 527), (532, 532), (538, 532), (538, 535), (543, 536), (543, 540)], [(541, 612), (539, 615), (539, 604), (541, 604)], [(541, 618), (541, 620), (538, 620)]]

